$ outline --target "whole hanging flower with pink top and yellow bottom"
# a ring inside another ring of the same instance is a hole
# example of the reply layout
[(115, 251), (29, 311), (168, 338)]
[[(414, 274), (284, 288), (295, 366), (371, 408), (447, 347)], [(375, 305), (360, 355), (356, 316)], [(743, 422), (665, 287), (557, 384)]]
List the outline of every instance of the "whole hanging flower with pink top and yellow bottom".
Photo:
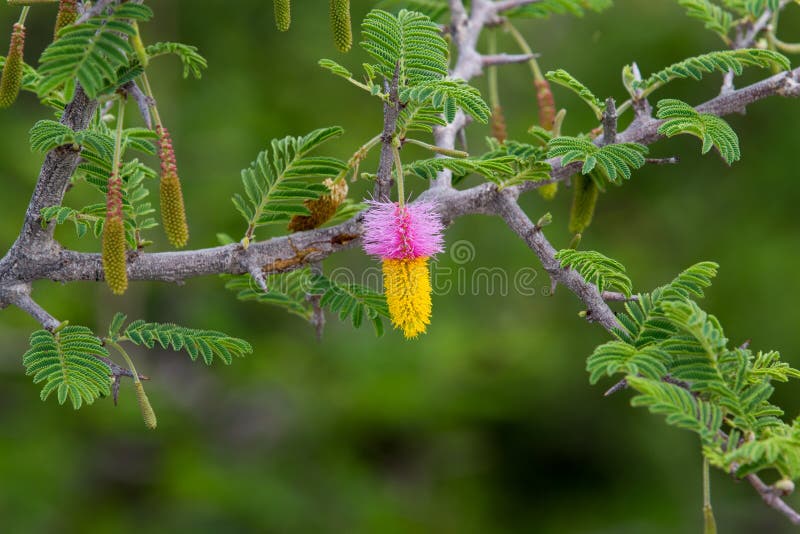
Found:
[(364, 250), (383, 260), (389, 315), (406, 338), (424, 333), (431, 317), (428, 259), (444, 249), (444, 226), (432, 202), (370, 202)]

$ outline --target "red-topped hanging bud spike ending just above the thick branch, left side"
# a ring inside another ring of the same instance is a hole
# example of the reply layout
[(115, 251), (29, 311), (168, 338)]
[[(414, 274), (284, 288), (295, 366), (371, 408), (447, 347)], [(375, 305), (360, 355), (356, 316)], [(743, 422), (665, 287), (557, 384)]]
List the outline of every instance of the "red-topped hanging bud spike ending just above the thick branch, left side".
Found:
[(175, 163), (175, 150), (169, 131), (156, 127), (158, 133), (158, 153), (161, 158), (161, 223), (167, 239), (175, 247), (183, 247), (189, 241), (189, 227), (186, 224), (186, 209), (183, 204), (183, 191)]

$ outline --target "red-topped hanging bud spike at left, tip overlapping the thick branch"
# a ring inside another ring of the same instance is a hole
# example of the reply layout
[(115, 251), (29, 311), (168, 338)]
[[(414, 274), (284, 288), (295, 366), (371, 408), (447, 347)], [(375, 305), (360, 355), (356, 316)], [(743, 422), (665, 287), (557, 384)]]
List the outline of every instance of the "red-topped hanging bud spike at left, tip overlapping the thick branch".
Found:
[(103, 227), (103, 272), (106, 284), (115, 295), (128, 289), (125, 258), (125, 226), (122, 222), (122, 180), (114, 172), (108, 179), (106, 223)]

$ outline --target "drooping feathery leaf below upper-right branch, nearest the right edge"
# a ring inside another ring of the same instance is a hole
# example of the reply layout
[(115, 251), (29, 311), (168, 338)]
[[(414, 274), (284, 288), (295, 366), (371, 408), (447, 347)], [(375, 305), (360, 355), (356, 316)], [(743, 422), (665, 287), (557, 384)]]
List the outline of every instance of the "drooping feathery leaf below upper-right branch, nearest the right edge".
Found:
[(699, 113), (689, 104), (670, 98), (658, 102), (657, 116), (665, 119), (658, 128), (658, 133), (662, 135), (672, 137), (689, 134), (698, 137), (703, 142), (703, 154), (716, 148), (728, 165), (742, 156), (739, 136), (724, 119), (716, 115)]

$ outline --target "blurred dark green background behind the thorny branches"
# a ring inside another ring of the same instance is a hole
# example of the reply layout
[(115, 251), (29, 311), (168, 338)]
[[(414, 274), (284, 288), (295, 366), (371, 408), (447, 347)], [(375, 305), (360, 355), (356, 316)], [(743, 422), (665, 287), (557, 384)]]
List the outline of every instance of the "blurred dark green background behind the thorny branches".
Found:
[[(544, 69), (566, 68), (601, 96), (622, 98), (620, 70), (637, 61), (652, 72), (721, 48), (717, 38), (670, 0), (617, 0), (602, 14), (519, 23)], [(4, 3), (5, 4), (5, 3)], [(274, 29), (271, 2), (180, 0), (154, 3), (145, 40), (195, 44), (209, 60), (202, 81), (183, 80), (175, 59), (158, 59), (151, 80), (175, 141), (193, 247), (215, 234), (239, 237), (244, 224), (228, 198), (239, 170), (270, 139), (339, 124), (347, 135), (326, 146), (349, 157), (381, 126), (380, 105), (318, 68), (330, 57), (357, 70), (364, 55), (338, 53), (323, 0), (294, 2), (291, 31)], [(353, 1), (354, 20), (373, 6)], [(18, 9), (0, 6), (0, 28)], [(26, 60), (47, 44), (53, 6), (29, 18)], [(800, 9), (790, 7), (781, 36), (800, 36)], [(516, 52), (506, 37), (503, 49)], [(5, 45), (3, 45), (5, 46)], [(4, 53), (4, 52), (3, 52)], [(747, 73), (739, 84), (766, 76)], [(698, 103), (719, 89), (719, 76), (680, 82), (660, 96)], [(528, 69), (500, 72), (512, 136), (525, 139), (536, 117)], [(485, 80), (477, 81), (485, 89)], [(578, 101), (556, 89), (570, 109), (566, 132), (594, 127)], [(42, 156), (27, 131), (50, 112), (30, 94), (0, 114), (0, 246), (11, 245)], [(701, 157), (692, 138), (660, 142), (656, 156), (679, 154), (678, 167), (648, 167), (601, 198), (585, 248), (628, 266), (640, 290), (671, 279), (699, 260), (716, 260), (720, 276), (705, 306), (732, 343), (752, 339), (800, 366), (800, 295), (796, 125), (800, 102), (773, 98), (730, 119), (743, 160), (727, 168)], [(470, 128), (476, 150), (487, 128)], [(370, 159), (363, 169), (374, 169)], [(419, 192), (421, 181), (407, 189)], [(353, 187), (354, 195), (366, 191)], [(83, 196), (82, 196), (83, 195)], [(91, 197), (79, 190), (67, 204)], [(523, 205), (532, 218), (551, 211), (547, 234), (568, 244), (568, 191), (552, 204), (537, 195)], [(97, 199), (94, 199), (97, 201)], [(72, 228), (71, 246), (97, 250)], [(262, 233), (262, 236), (265, 234)], [(158, 232), (155, 248), (165, 250)], [(481, 267), (510, 273), (537, 269), (534, 296), (513, 290), (451, 291), (434, 299), (429, 333), (408, 342), (394, 331), (376, 339), (329, 317), (324, 340), (283, 311), (239, 303), (215, 277), (185, 286), (138, 283), (123, 298), (103, 284), (35, 285), (36, 298), (59, 319), (98, 330), (116, 311), (132, 318), (217, 328), (252, 342), (255, 353), (229, 367), (193, 364), (183, 354), (135, 351), (159, 416), (147, 431), (130, 383), (110, 400), (73, 413), (24, 376), (20, 357), (37, 328), (16, 309), (0, 318), (0, 530), (83, 532), (541, 532), (684, 533), (701, 529), (700, 455), (690, 434), (632, 409), (629, 394), (603, 398), (610, 382), (588, 384), (586, 356), (607, 339), (578, 317), (580, 303), (549, 283), (534, 256), (498, 220), (458, 220), (448, 243), (468, 240), (471, 261), (448, 254), (440, 265), (470, 275)], [(326, 268), (374, 265), (358, 250)], [(796, 385), (777, 398), (794, 417)], [(789, 532), (745, 483), (713, 475), (721, 532)], [(795, 505), (800, 500), (790, 498)]]

